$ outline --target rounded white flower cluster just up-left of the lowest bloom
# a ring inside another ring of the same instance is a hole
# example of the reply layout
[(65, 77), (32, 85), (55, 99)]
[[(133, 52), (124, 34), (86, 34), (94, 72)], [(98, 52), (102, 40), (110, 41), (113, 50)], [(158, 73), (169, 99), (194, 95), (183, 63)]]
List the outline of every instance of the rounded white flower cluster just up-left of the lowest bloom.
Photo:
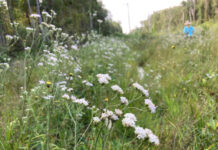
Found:
[(132, 113), (126, 113), (124, 115), (124, 119), (122, 120), (122, 124), (124, 127), (135, 127), (135, 122), (137, 121), (136, 117)]

